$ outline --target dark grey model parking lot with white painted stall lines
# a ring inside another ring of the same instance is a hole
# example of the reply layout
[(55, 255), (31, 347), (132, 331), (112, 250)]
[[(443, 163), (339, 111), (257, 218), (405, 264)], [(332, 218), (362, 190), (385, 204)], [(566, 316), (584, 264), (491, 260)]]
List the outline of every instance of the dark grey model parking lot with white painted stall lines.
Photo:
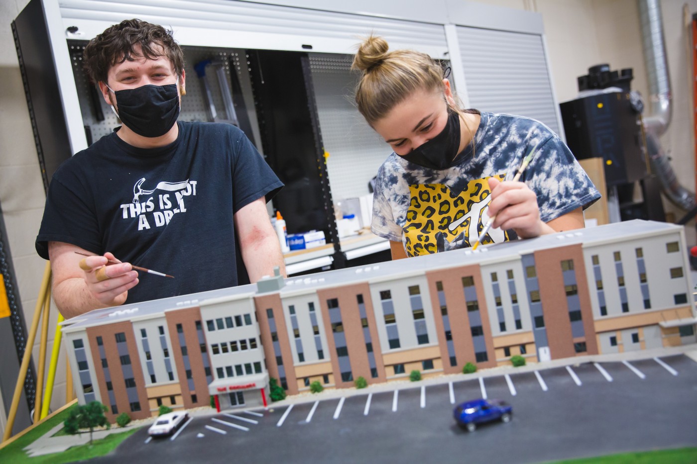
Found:
[[(456, 426), (454, 403), (482, 396), (509, 401), (512, 421)], [(697, 446), (696, 410), (697, 363), (674, 355), (196, 417), (91, 462), (539, 463)]]

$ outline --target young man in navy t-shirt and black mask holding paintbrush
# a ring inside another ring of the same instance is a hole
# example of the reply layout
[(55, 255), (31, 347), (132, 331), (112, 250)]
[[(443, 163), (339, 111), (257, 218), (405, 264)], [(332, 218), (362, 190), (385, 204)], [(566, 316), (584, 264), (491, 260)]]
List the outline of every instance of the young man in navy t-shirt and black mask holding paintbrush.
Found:
[(36, 249), (51, 260), (61, 314), (236, 286), (238, 252), (252, 282), (275, 266), (285, 274), (266, 211), (283, 184), (237, 127), (176, 121), (186, 76), (171, 33), (123, 21), (89, 42), (84, 62), (123, 125), (49, 187)]

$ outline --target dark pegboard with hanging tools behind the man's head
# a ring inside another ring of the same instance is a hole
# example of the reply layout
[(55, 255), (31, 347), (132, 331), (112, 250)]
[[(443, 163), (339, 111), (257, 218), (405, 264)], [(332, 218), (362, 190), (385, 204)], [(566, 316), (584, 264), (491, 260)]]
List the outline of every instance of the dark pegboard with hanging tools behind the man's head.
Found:
[[(93, 92), (93, 84), (89, 82), (82, 67), (82, 53), (87, 45), (85, 41), (70, 40), (68, 49), (70, 51), (70, 59), (72, 60), (72, 70), (75, 77), (75, 86), (77, 87), (77, 97), (82, 112), (82, 121), (84, 125), (89, 126), (92, 135), (92, 141), (97, 141), (101, 137), (110, 134), (114, 127), (121, 125), (114, 111), (107, 105), (99, 91), (96, 91), (95, 97), (91, 95)], [(224, 70), (227, 77), (228, 88), (231, 88), (230, 72), (237, 72), (240, 86), (242, 88), (243, 98), (247, 115), (252, 123), (252, 133), (254, 144), (261, 152), (261, 144), (259, 141), (259, 127), (256, 123), (256, 112), (254, 111), (254, 100), (252, 97), (252, 86), (250, 83), (250, 73), (247, 63), (247, 55), (245, 50), (241, 49), (225, 49), (213, 47), (182, 47), (184, 52), (184, 71), (186, 75), (186, 95), (181, 99), (181, 113), (179, 119), (181, 121), (209, 121), (208, 105), (204, 98), (204, 85), (194, 71), (194, 65), (204, 60), (220, 60), (224, 61)], [(217, 75), (213, 68), (208, 68), (206, 77), (210, 93), (213, 97), (215, 109), (218, 117), (227, 117), (225, 106), (220, 93), (220, 86), (217, 81)], [(104, 119), (100, 121), (97, 118), (98, 111), (95, 111), (95, 105), (99, 105)], [(239, 109), (236, 108), (236, 111)]]

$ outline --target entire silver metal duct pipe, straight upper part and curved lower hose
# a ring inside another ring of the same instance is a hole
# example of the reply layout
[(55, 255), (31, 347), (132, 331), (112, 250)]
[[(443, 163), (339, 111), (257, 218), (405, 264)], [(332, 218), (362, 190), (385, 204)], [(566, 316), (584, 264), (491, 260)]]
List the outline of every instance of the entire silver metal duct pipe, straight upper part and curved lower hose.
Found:
[(637, 0), (637, 4), (651, 102), (651, 114), (643, 117), (647, 155), (663, 193), (675, 206), (689, 211), (697, 204), (695, 194), (677, 182), (668, 155), (659, 143), (659, 137), (668, 129), (673, 116), (671, 75), (668, 72), (660, 1)]

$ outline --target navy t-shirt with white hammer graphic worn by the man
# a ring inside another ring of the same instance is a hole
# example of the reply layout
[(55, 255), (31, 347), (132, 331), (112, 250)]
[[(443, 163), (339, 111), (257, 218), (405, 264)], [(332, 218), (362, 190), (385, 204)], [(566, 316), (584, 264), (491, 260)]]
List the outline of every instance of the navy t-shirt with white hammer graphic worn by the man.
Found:
[(61, 164), (38, 254), (66, 242), (175, 277), (139, 272), (127, 303), (236, 286), (233, 214), (283, 184), (237, 127), (178, 125), (167, 146), (135, 148), (113, 132)]

